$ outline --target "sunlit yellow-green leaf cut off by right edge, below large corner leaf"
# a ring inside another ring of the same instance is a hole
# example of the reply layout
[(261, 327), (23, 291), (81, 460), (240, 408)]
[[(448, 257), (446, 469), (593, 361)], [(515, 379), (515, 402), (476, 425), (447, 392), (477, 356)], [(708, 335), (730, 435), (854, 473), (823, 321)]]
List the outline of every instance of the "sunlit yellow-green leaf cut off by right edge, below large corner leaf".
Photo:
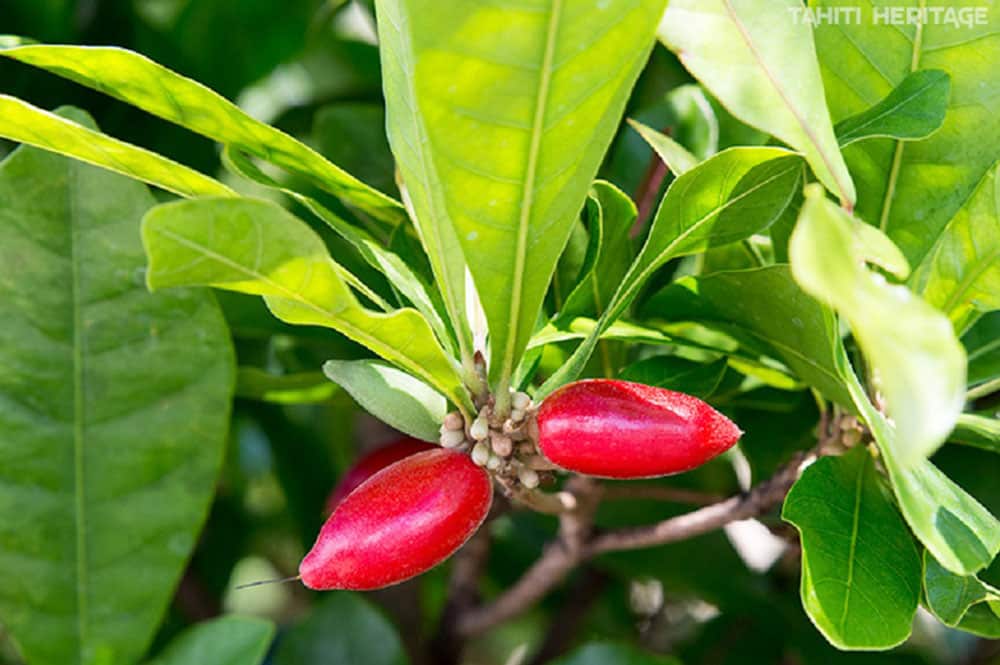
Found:
[(913, 277), (924, 298), (964, 330), (1000, 309), (1000, 179), (995, 164), (951, 218)]

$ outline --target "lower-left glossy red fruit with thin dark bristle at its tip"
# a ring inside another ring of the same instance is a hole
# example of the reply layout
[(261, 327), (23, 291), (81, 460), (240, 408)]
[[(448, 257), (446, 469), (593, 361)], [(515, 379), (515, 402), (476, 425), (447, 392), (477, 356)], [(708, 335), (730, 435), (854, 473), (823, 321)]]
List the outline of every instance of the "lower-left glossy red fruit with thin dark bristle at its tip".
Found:
[(468, 455), (445, 448), (379, 471), (327, 519), (299, 565), (310, 589), (397, 584), (448, 558), (489, 512), (493, 485)]

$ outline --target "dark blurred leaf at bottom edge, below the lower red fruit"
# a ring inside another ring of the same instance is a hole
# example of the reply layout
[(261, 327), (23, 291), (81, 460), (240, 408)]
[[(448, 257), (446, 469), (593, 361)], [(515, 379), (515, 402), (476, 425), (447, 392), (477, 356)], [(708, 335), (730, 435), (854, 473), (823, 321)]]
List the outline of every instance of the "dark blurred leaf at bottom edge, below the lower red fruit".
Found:
[(293, 626), (274, 655), (274, 665), (407, 665), (396, 629), (362, 596), (326, 594)]

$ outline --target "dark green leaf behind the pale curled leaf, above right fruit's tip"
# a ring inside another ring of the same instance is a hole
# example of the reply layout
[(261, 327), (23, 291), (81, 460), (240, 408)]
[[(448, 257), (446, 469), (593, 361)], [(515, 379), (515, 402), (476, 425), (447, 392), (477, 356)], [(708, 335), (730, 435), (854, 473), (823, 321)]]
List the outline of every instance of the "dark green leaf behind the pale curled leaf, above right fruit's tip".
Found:
[(753, 352), (780, 359), (828, 399), (851, 404), (837, 321), (799, 288), (787, 265), (685, 277), (650, 298), (642, 311), (715, 327)]

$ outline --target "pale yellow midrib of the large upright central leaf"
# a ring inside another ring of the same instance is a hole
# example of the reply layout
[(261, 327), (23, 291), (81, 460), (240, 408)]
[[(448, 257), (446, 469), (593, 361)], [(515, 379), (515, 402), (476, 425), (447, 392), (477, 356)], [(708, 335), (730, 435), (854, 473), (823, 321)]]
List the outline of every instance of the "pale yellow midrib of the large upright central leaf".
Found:
[(522, 291), (524, 289), (524, 268), (527, 262), (528, 230), (531, 223), (531, 212), (535, 196), (535, 178), (538, 168), (538, 157), (541, 153), (542, 134), (544, 133), (545, 111), (548, 107), (549, 84), (552, 81), (552, 60), (555, 56), (556, 38), (559, 33), (559, 20), (562, 17), (563, 0), (553, 0), (549, 11), (549, 22), (545, 34), (545, 51), (542, 56), (541, 71), (538, 76), (538, 89), (535, 96), (535, 113), (532, 119), (531, 144), (528, 148), (527, 163), (524, 174), (524, 189), (521, 192), (521, 210), (517, 228), (517, 250), (514, 254), (514, 284), (510, 298), (510, 331), (503, 353), (503, 365), (500, 372), (501, 394), (506, 394), (506, 384), (514, 369), (514, 352), (520, 337), (520, 309)]

